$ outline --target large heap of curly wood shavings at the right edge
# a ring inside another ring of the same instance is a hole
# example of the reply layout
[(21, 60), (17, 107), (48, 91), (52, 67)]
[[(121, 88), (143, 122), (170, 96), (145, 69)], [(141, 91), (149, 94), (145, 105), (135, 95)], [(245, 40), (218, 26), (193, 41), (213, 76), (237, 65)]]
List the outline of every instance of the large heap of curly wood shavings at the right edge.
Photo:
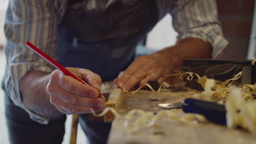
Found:
[[(254, 65), (255, 62), (256, 55), (251, 64)], [(225, 82), (207, 79), (206, 76), (200, 77), (195, 73), (185, 74), (189, 74), (187, 80), (193, 80), (193, 76), (196, 75), (197, 82), (205, 90), (201, 94), (195, 94), (195, 98), (218, 101), (218, 103), (225, 102), (228, 128), (241, 127), (256, 135), (256, 101), (253, 99), (253, 94), (256, 94), (256, 83), (242, 87), (232, 86), (232, 82), (240, 79), (242, 71)]]

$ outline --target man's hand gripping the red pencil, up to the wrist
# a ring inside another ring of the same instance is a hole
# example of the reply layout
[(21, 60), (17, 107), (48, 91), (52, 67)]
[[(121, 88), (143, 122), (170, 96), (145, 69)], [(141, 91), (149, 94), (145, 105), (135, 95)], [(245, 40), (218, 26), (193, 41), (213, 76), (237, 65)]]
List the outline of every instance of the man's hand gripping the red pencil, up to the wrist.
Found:
[(98, 94), (101, 91), (100, 76), (86, 69), (67, 69), (90, 86), (84, 85), (57, 69), (51, 73), (50, 81), (46, 87), (46, 91), (50, 95), (51, 104), (67, 115), (90, 113), (91, 109), (102, 111), (106, 101), (98, 98)]

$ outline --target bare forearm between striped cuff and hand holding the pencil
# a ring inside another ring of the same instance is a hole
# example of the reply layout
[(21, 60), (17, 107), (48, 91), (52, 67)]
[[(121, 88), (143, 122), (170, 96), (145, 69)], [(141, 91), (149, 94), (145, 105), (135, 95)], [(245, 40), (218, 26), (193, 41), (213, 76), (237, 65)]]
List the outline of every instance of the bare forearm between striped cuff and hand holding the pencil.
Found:
[(50, 73), (29, 71), (20, 81), (20, 92), (28, 109), (40, 116), (53, 118), (62, 113), (50, 103), (50, 95), (46, 92), (49, 80)]

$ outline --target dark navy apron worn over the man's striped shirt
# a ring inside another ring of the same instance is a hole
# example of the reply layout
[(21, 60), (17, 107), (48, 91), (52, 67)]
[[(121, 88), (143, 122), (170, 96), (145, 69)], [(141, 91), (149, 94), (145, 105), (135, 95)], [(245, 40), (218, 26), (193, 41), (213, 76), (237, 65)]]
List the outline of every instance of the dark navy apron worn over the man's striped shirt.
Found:
[(133, 61), (137, 44), (157, 22), (154, 0), (117, 1), (103, 11), (87, 11), (86, 1), (69, 2), (58, 26), (59, 62), (113, 80)]

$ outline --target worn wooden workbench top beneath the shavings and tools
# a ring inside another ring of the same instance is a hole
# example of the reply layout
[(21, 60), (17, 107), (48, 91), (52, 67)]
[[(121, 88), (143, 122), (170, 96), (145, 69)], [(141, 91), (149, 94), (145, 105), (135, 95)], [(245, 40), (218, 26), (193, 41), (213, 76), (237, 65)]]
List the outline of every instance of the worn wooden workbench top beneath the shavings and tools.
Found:
[[(150, 91), (139, 91), (135, 94), (122, 95), (119, 104), (119, 113), (125, 114), (132, 109), (158, 112), (163, 110), (158, 104), (182, 101), (192, 97), (193, 89), (176, 87), (164, 89), (160, 93)], [(172, 110), (178, 116), (184, 115), (181, 109)], [(161, 118), (157, 127), (145, 127), (136, 133), (131, 133), (124, 128), (124, 119), (114, 119), (110, 130), (108, 143), (208, 143), (208, 144), (251, 144), (256, 143), (256, 136), (243, 130), (228, 129), (223, 125), (210, 122), (178, 122), (170, 118)]]

